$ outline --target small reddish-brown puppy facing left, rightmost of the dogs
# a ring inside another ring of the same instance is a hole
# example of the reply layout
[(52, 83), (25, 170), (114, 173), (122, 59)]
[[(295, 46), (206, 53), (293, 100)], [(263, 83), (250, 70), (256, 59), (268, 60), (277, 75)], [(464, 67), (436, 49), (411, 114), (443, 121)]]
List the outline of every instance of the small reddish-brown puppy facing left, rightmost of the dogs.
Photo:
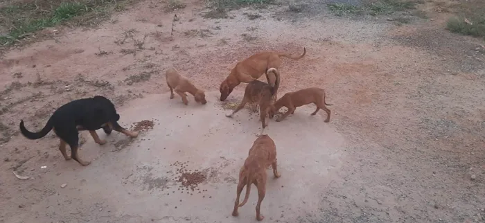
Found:
[(279, 98), (278, 100), (276, 100), (276, 102), (274, 102), (274, 105), (271, 105), (271, 111), (274, 114), (281, 107), (288, 107), (288, 111), (286, 111), (283, 116), (276, 118), (277, 122), (281, 122), (287, 116), (293, 114), (294, 110), (297, 109), (297, 107), (308, 105), (310, 103), (317, 105), (317, 110), (312, 113), (312, 116), (315, 116), (315, 114), (317, 114), (317, 111), (319, 109), (322, 109), (327, 113), (327, 118), (325, 119), (325, 122), (328, 123), (330, 121), (330, 110), (325, 107), (325, 105), (329, 104), (325, 102), (324, 89), (318, 87), (310, 87), (306, 89), (301, 89), (299, 91), (285, 93), (283, 97)]

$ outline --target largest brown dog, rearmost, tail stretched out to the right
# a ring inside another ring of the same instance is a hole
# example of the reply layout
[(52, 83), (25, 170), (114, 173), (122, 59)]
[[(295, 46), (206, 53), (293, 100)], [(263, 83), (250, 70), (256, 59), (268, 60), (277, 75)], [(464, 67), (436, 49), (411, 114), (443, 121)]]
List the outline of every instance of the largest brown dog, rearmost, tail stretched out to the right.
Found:
[[(238, 62), (236, 66), (231, 70), (226, 80), (222, 81), (219, 87), (220, 101), (226, 100), (227, 96), (233, 91), (233, 89), (240, 84), (240, 82), (249, 83), (256, 80), (267, 73), (268, 68), (279, 69), (281, 66), (280, 57), (287, 57), (293, 60), (299, 60), (306, 54), (306, 48), (303, 48), (303, 54), (294, 57), (287, 53), (277, 53), (274, 51), (266, 51), (256, 53), (246, 60)], [(267, 80), (270, 82), (270, 80)]]

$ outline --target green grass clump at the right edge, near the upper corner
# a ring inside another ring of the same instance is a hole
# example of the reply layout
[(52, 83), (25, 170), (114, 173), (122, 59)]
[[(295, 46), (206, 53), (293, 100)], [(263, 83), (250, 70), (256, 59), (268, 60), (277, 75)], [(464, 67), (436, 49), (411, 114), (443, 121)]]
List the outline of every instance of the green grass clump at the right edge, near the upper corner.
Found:
[(485, 38), (485, 17), (466, 20), (464, 17), (451, 17), (446, 28), (452, 33)]

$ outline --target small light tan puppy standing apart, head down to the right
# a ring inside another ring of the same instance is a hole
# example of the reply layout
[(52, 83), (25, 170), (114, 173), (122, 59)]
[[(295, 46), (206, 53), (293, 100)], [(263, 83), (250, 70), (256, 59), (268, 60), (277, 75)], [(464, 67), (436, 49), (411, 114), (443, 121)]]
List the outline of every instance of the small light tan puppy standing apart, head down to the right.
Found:
[(188, 105), (186, 92), (191, 93), (196, 102), (200, 102), (202, 105), (207, 103), (204, 91), (197, 89), (190, 80), (180, 75), (175, 68), (168, 69), (165, 73), (165, 77), (168, 88), (170, 88), (170, 99), (175, 97), (173, 94), (173, 91), (175, 90), (175, 93), (182, 97), (182, 102), (184, 102), (185, 105)]

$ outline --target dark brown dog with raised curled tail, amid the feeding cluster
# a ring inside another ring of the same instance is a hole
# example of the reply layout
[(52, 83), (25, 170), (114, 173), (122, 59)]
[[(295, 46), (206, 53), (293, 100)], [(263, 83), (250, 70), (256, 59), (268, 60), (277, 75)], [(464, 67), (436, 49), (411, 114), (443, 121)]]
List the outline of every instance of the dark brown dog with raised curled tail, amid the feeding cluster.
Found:
[(276, 79), (274, 81), (274, 87), (260, 80), (253, 80), (252, 82), (249, 82), (249, 84), (246, 85), (246, 89), (244, 91), (243, 101), (241, 101), (238, 107), (236, 107), (236, 110), (232, 111), (231, 114), (226, 115), (227, 117), (231, 118), (234, 114), (236, 114), (236, 112), (238, 112), (240, 109), (243, 109), (247, 102), (251, 102), (252, 104), (256, 103), (257, 105), (259, 105), (261, 134), (263, 134), (263, 131), (267, 126), (266, 116), (273, 118), (274, 113), (271, 112), (272, 110), (270, 105), (272, 103), (273, 96), (276, 95), (276, 92), (278, 91), (280, 83), (280, 74), (278, 70), (274, 69), (274, 67), (267, 69), (266, 78), (268, 78), (268, 73), (274, 73)]

